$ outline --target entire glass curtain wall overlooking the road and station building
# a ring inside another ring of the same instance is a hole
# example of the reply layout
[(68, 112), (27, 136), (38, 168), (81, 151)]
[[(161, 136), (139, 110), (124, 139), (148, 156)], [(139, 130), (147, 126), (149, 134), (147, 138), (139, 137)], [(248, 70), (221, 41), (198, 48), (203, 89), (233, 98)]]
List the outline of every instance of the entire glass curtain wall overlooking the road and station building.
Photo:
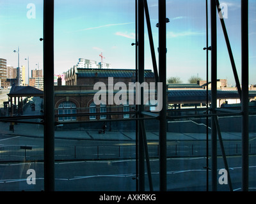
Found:
[[(248, 2), (247, 167), (248, 189), (254, 191), (256, 3)], [(143, 3), (143, 12), (136, 3)], [(243, 190), (241, 1), (220, 2), (220, 10), (214, 4), (216, 27), (211, 3), (218, 1), (166, 0), (167, 191)], [(140, 184), (145, 191), (161, 189), (159, 152), (165, 147), (159, 143), (159, 104), (144, 98), (138, 114), (132, 98), (138, 90), (128, 94), (129, 84), (138, 82), (141, 13), (143, 80), (150, 91), (150, 82), (158, 80), (158, 5), (157, 0), (54, 1), (56, 191), (138, 191)], [(1, 191), (45, 189), (43, 8), (43, 1), (0, 3)], [(140, 136), (147, 139), (143, 149)]]

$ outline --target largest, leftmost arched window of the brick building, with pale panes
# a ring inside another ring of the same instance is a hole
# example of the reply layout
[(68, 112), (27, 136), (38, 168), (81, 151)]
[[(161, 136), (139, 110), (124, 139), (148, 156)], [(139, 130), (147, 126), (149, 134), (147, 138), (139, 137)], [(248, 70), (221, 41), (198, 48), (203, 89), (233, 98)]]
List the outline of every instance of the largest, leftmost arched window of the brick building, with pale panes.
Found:
[[(76, 104), (71, 101), (64, 101), (58, 106), (59, 115), (76, 114)], [(59, 117), (59, 121), (76, 120), (76, 116)]]

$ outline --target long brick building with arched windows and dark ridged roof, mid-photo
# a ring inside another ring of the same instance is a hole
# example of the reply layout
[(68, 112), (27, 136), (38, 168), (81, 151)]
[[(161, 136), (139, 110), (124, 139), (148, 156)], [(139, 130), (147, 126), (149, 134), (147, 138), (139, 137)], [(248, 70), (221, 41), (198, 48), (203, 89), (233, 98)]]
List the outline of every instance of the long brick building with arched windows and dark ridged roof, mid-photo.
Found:
[[(71, 117), (58, 117), (56, 120), (59, 122), (65, 121), (84, 121), (84, 120), (104, 120), (104, 119), (123, 119), (129, 118), (131, 115), (104, 115), (108, 112), (131, 112), (133, 105), (109, 105), (107, 104), (95, 105), (93, 96), (99, 90), (93, 90), (93, 86), (97, 82), (103, 82), (109, 85), (109, 77), (113, 77), (113, 84), (117, 82), (124, 82), (127, 85), (129, 82), (136, 82), (135, 69), (84, 69), (76, 68), (76, 66), (67, 71), (65, 74), (65, 84), (54, 86), (55, 95), (55, 110), (56, 114), (79, 114), (79, 113), (98, 113), (98, 115), (86, 116), (71, 116)], [(59, 78), (61, 80), (61, 78)], [(151, 70), (145, 70), (145, 82), (155, 82), (154, 73)], [(113, 94), (119, 90), (115, 90)], [(134, 98), (135, 99), (135, 98)], [(149, 110), (148, 105), (148, 110)], [(147, 109), (147, 108), (146, 108)], [(99, 114), (102, 113), (102, 114)]]

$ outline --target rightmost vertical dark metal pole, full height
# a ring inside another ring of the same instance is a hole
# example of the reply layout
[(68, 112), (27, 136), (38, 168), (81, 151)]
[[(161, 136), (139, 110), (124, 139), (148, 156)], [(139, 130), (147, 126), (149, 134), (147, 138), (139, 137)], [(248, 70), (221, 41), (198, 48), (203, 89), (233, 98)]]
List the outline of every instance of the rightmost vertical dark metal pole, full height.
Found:
[(248, 113), (248, 0), (241, 1), (241, 57), (242, 57), (242, 190), (248, 191), (249, 173), (249, 113)]

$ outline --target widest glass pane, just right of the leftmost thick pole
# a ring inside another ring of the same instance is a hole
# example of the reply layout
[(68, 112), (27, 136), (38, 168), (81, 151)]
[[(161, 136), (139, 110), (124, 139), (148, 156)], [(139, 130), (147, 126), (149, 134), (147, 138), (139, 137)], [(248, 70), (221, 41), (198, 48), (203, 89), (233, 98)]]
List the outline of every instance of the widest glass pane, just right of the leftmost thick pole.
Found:
[(56, 159), (62, 160), (56, 177), (67, 178), (56, 180), (56, 190), (135, 191), (135, 121), (122, 121), (122, 106), (93, 98), (97, 82), (108, 87), (109, 77), (115, 84), (131, 81), (125, 70), (135, 69), (134, 1), (54, 3), (54, 71), (64, 75), (54, 86), (55, 107), (68, 101), (65, 113), (74, 114), (59, 120), (55, 131), (56, 138), (70, 139), (55, 144)]

